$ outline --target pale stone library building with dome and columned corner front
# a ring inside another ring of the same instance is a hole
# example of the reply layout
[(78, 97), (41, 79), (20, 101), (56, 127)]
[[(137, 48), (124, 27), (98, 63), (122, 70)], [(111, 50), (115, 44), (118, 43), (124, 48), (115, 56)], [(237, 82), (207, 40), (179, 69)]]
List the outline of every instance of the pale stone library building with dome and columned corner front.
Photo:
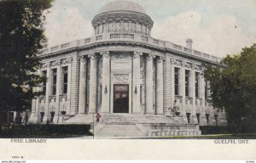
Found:
[(107, 4), (92, 25), (90, 38), (43, 49), (38, 74), (48, 81), (36, 88), (44, 95), (32, 100), (31, 123), (83, 123), (98, 112), (225, 124), (201, 76), (203, 64), (223, 66), (221, 59), (192, 49), (190, 39), (183, 47), (150, 37), (153, 20), (135, 3)]

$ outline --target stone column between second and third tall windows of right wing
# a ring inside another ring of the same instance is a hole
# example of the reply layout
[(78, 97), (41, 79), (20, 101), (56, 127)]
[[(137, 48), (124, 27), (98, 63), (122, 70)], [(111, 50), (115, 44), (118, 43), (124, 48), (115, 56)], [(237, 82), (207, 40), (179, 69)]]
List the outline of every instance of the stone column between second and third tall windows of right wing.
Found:
[(192, 65), (191, 67), (189, 82), (189, 88), (192, 95), (191, 123), (198, 123), (195, 110), (195, 65)]

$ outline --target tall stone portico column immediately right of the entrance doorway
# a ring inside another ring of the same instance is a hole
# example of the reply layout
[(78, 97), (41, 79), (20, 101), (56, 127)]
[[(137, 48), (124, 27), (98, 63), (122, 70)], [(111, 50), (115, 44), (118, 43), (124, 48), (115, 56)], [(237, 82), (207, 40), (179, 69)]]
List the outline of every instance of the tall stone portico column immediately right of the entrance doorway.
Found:
[(141, 52), (133, 53), (133, 67), (132, 67), (132, 114), (141, 113), (141, 102), (140, 102), (140, 74), (141, 74), (141, 61), (140, 56), (143, 55)]

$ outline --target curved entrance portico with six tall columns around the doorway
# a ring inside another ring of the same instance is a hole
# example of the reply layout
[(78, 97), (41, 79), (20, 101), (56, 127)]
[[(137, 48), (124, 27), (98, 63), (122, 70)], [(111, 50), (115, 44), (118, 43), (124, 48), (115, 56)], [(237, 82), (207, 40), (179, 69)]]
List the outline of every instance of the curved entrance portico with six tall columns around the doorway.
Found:
[[(163, 115), (163, 70), (162, 56), (139, 51), (102, 51), (81, 56), (78, 113)], [(141, 74), (145, 75), (143, 80)], [(141, 87), (145, 87), (144, 94)], [(142, 96), (146, 98), (145, 104)]]

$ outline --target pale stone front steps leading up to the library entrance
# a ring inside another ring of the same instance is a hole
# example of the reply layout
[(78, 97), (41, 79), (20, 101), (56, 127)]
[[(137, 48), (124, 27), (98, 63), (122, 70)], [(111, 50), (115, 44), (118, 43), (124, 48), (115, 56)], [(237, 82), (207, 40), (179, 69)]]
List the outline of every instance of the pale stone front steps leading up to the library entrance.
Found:
[(76, 115), (65, 122), (93, 124), (96, 138), (201, 135), (199, 126), (177, 124), (164, 115), (102, 115), (99, 123), (94, 121), (92, 115)]

